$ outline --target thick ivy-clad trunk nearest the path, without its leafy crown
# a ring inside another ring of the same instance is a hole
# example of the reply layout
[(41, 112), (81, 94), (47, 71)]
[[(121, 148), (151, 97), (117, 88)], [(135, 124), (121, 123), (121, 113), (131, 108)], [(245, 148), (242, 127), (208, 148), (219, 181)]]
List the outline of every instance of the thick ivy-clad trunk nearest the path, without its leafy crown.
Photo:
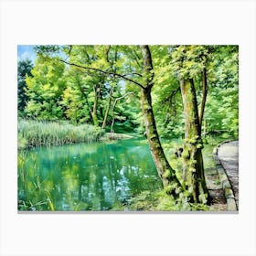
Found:
[(208, 202), (208, 189), (204, 176), (202, 141), (197, 111), (197, 96), (193, 80), (180, 80), (184, 113), (185, 145), (183, 151), (183, 180), (193, 202)]

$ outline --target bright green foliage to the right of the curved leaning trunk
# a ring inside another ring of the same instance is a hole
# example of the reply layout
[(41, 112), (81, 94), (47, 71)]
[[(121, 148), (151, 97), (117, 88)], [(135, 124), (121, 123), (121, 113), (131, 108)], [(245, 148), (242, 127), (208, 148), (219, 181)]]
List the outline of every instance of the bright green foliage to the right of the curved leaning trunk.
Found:
[(239, 135), (239, 60), (238, 46), (154, 46), (154, 110), (162, 136), (183, 136), (183, 103), (180, 77), (193, 78), (197, 102), (202, 101), (202, 70), (208, 73), (208, 95), (203, 135)]

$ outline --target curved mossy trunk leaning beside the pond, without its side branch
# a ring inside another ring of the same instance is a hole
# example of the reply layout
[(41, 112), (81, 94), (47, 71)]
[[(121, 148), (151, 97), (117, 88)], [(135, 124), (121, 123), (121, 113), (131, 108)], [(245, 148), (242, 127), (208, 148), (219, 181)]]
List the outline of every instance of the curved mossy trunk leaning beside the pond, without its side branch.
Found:
[(144, 88), (142, 88), (142, 109), (147, 140), (150, 146), (158, 175), (161, 177), (167, 193), (178, 197), (181, 185), (175, 170), (169, 165), (156, 130), (155, 116), (152, 106), (151, 89), (154, 86), (154, 69), (148, 46), (142, 46), (144, 57)]

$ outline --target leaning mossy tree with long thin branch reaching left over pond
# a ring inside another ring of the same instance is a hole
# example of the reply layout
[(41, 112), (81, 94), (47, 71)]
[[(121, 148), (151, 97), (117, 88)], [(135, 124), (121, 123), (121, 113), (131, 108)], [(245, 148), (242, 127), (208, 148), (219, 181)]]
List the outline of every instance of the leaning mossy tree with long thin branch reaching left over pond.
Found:
[[(136, 55), (136, 49), (134, 48), (125, 48), (123, 54), (120, 55), (120, 59), (123, 61), (121, 63), (125, 63), (131, 55)], [(134, 66), (121, 64), (117, 66), (117, 68), (112, 71), (109, 70), (108, 64), (106, 62), (100, 61), (97, 63), (91, 62), (91, 66), (83, 66), (80, 63), (72, 63), (63, 61), (70, 66), (77, 67), (79, 69), (85, 69), (88, 71), (96, 71), (106, 76), (112, 76), (114, 78), (119, 78), (128, 82), (132, 82), (136, 86), (141, 88), (141, 101), (142, 101), (142, 109), (144, 113), (144, 125), (146, 130), (146, 136), (148, 139), (148, 143), (151, 148), (151, 153), (153, 155), (155, 166), (158, 171), (159, 176), (163, 181), (163, 185), (165, 190), (172, 194), (174, 197), (178, 197), (181, 191), (181, 185), (179, 180), (176, 177), (175, 171), (169, 165), (162, 145), (160, 143), (159, 135), (157, 133), (156, 124), (155, 124), (155, 115), (153, 112), (152, 106), (152, 98), (151, 98), (151, 90), (154, 86), (154, 69), (153, 62), (151, 57), (150, 48), (148, 46), (141, 46), (141, 56), (143, 58), (143, 74), (140, 71), (140, 63), (137, 61), (138, 69), (135, 69)], [(128, 57), (128, 58), (127, 58)], [(105, 69), (102, 69), (105, 68)], [(116, 70), (123, 70), (124, 74), (117, 73)], [(128, 76), (132, 76), (129, 78)], [(137, 79), (134, 80), (133, 78)]]

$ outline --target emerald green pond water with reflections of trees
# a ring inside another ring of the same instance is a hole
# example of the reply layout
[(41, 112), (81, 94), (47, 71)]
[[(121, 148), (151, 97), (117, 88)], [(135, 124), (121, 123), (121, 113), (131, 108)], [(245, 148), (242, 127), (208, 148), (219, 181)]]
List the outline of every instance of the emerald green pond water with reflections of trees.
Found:
[(144, 139), (38, 147), (18, 155), (19, 210), (118, 210), (159, 187)]

